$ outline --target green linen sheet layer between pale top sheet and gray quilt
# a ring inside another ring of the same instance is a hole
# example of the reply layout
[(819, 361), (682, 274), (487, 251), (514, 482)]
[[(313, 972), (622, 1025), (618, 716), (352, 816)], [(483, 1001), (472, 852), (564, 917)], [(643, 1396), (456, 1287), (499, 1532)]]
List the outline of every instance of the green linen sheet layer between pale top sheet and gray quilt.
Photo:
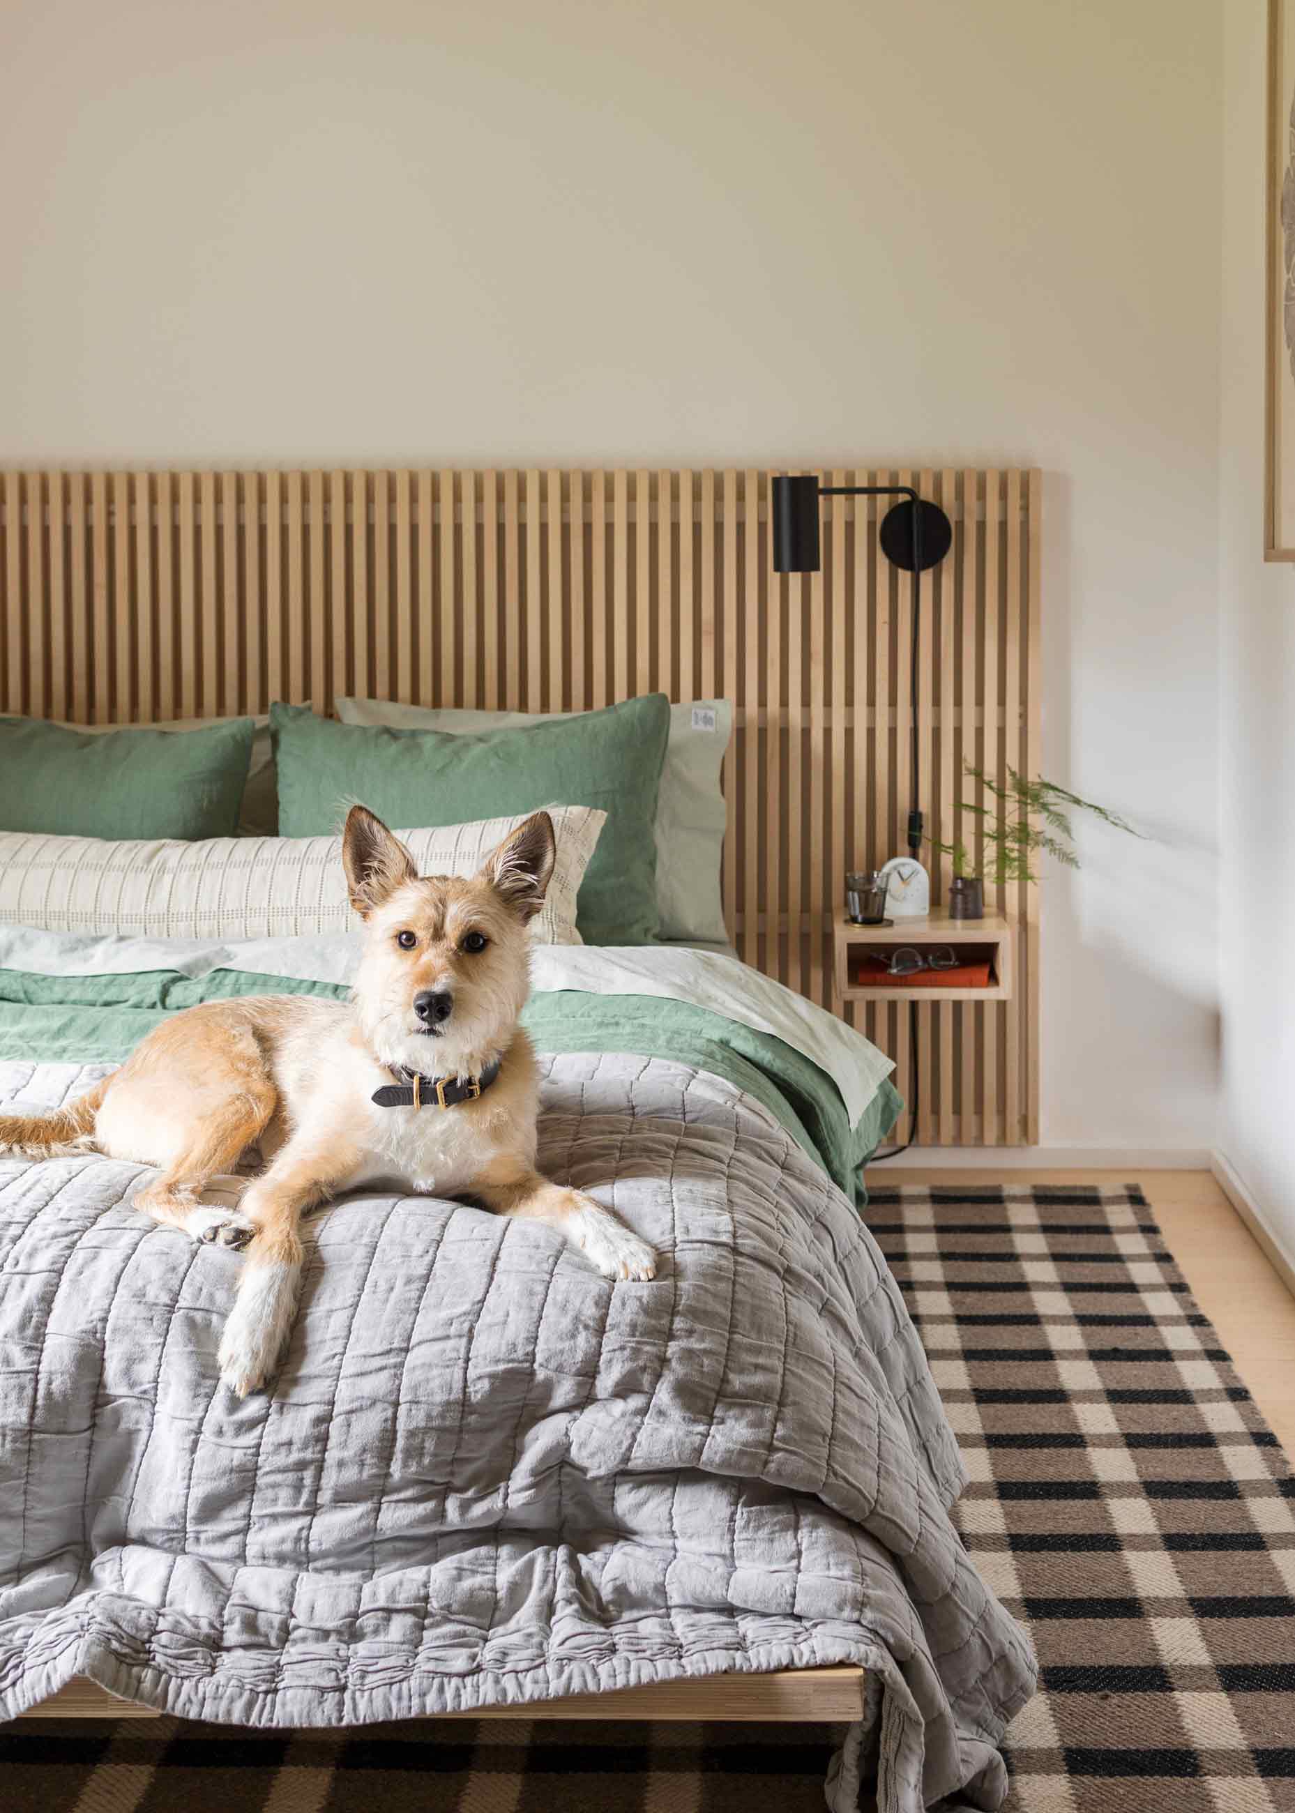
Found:
[[(0, 1059), (116, 1064), (170, 1013), (203, 1001), (265, 994), (339, 1001), (348, 990), (248, 970), (212, 970), (194, 979), (174, 970), (38, 975), (0, 968)], [(635, 1052), (724, 1077), (762, 1102), (860, 1204), (865, 1200), (860, 1168), (903, 1106), (887, 1081), (851, 1128), (832, 1079), (794, 1046), (660, 995), (539, 994), (522, 1021), (539, 1052)]]

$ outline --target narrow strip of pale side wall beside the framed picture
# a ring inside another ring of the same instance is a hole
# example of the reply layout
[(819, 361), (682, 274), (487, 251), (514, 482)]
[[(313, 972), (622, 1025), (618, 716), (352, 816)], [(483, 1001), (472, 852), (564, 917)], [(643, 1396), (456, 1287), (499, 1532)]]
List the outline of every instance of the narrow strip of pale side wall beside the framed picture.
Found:
[(1262, 562), (1264, 15), (1226, 15), (1219, 1146), (1295, 1258), (1295, 566)]

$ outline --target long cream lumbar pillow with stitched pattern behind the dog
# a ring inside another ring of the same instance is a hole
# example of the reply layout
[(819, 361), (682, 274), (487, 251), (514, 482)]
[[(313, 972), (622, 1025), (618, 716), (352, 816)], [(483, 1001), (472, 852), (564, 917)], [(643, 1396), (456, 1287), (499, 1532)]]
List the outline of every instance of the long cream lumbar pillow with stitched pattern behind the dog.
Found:
[[(531, 919), (540, 945), (579, 945), (575, 897), (606, 812), (551, 805), (557, 861)], [(423, 876), (472, 876), (530, 814), (401, 830)], [(310, 937), (354, 932), (341, 838), (111, 843), (0, 832), (0, 923), (145, 937)]]

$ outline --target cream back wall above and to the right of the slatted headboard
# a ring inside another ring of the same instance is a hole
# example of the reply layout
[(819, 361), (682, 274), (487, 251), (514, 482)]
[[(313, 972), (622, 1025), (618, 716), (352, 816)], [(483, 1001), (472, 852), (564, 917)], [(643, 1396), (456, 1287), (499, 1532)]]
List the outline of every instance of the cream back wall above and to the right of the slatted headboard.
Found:
[(1052, 1144), (1217, 1095), (1217, 0), (7, 0), (0, 457), (1034, 462)]

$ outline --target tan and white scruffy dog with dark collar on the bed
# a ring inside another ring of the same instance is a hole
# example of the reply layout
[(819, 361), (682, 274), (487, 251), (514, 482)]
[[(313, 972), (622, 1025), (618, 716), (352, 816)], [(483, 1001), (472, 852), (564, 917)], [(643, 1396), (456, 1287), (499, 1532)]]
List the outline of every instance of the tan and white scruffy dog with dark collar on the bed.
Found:
[[(274, 1369), (301, 1278), (301, 1217), (339, 1189), (392, 1180), (473, 1197), (559, 1229), (608, 1278), (651, 1278), (653, 1249), (589, 1197), (535, 1169), (539, 1086), (517, 1024), (526, 923), (553, 874), (535, 812), (470, 881), (419, 877), (365, 807), (343, 836), (365, 946), (348, 1003), (258, 995), (189, 1008), (98, 1088), (45, 1119), (0, 1117), (0, 1151), (102, 1151), (161, 1168), (136, 1197), (194, 1240), (247, 1247), (219, 1345), (239, 1398)], [(245, 1148), (270, 1155), (236, 1211), (198, 1198)]]

